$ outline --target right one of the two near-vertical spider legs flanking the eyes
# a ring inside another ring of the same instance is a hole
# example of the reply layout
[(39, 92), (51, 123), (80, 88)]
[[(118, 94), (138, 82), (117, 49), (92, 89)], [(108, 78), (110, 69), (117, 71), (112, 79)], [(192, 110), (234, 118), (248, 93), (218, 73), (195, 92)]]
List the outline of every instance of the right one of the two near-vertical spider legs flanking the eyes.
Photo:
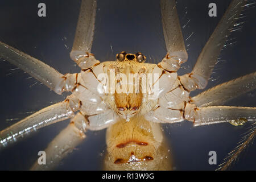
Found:
[(161, 0), (160, 8), (167, 55), (159, 65), (167, 71), (177, 71), (180, 65), (187, 61), (188, 54), (177, 15), (176, 1)]

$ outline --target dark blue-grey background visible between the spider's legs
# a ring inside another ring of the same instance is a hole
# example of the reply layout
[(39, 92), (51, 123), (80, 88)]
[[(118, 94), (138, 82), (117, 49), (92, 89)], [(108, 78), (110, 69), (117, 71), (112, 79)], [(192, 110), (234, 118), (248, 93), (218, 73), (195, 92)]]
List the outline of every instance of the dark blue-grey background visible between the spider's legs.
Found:
[[(46, 3), (47, 16), (38, 17), (38, 4)], [(208, 16), (208, 5), (217, 4), (217, 17)], [(249, 1), (253, 3), (255, 1)], [(180, 69), (180, 75), (192, 70), (201, 49), (224, 14), (230, 1), (182, 0), (177, 5), (180, 23), (188, 49), (189, 59)], [(222, 51), (207, 88), (255, 71), (256, 11), (255, 5), (246, 9), (242, 31), (230, 36), (234, 43)], [(0, 1), (0, 40), (28, 53), (56, 68), (61, 73), (79, 72), (69, 58), (75, 35), (80, 1)], [(148, 62), (158, 63), (166, 55), (159, 1), (98, 1), (96, 31), (92, 53), (101, 61), (113, 60), (121, 51), (141, 51)], [(185, 26), (186, 25), (186, 26)], [(236, 42), (236, 43), (235, 43)], [(7, 61), (0, 60), (0, 130), (55, 102), (64, 100), (46, 86), (29, 78), (27, 73)], [(201, 91), (199, 91), (201, 92)], [(197, 92), (197, 93), (199, 93)], [(256, 106), (255, 91), (247, 93), (226, 105)], [(196, 93), (192, 93), (195, 95)], [(38, 130), (0, 151), (0, 169), (27, 170), (38, 159), (38, 151), (68, 125), (56, 123)], [(177, 170), (213, 170), (208, 164), (208, 152), (217, 152), (217, 163), (236, 147), (250, 123), (234, 127), (229, 123), (194, 128), (184, 121), (163, 125)], [(63, 169), (101, 169), (106, 150), (105, 130), (88, 132), (85, 142), (59, 166)], [(232, 169), (256, 169), (256, 144), (243, 152)]]

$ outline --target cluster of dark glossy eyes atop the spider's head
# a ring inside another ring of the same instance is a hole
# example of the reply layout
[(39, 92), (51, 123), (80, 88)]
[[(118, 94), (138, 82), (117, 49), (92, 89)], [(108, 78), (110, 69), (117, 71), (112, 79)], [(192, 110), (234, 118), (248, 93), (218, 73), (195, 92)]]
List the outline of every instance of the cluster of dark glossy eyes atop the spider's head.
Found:
[(138, 63), (144, 63), (146, 57), (141, 53), (137, 52), (135, 55), (133, 53), (126, 53), (122, 51), (117, 54), (117, 61), (137, 61)]

